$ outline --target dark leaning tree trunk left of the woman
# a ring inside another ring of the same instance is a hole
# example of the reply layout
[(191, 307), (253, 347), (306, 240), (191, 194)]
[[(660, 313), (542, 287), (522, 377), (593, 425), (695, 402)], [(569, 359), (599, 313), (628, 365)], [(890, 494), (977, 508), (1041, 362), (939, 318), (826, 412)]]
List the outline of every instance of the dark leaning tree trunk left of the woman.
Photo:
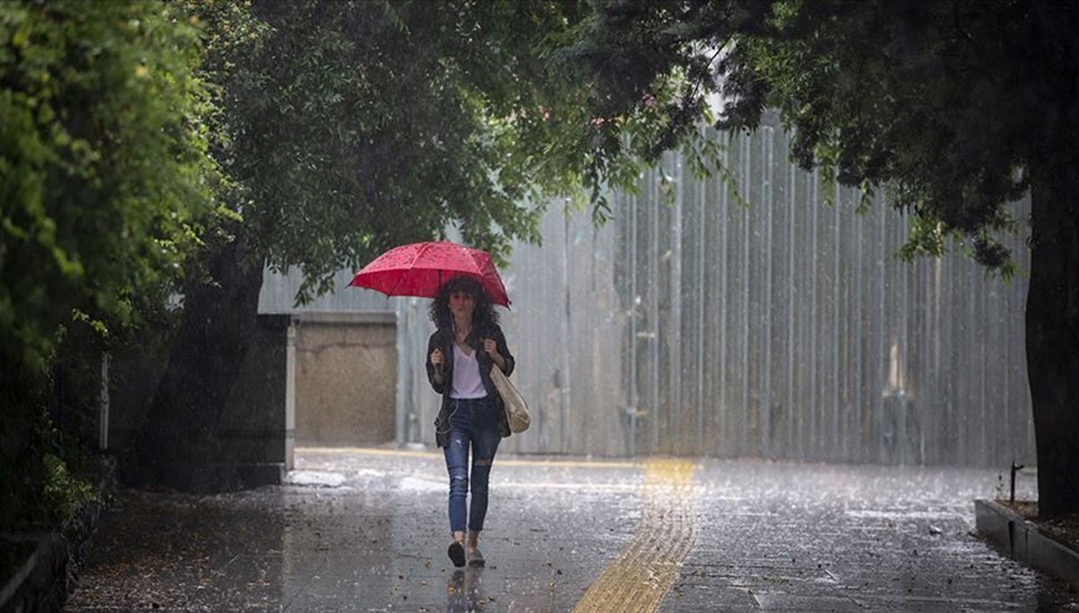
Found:
[(183, 317), (124, 479), (181, 490), (220, 489), (211, 466), (220, 458), (218, 421), (258, 323), (263, 262), (235, 241), (209, 256), (208, 278), (185, 287)]

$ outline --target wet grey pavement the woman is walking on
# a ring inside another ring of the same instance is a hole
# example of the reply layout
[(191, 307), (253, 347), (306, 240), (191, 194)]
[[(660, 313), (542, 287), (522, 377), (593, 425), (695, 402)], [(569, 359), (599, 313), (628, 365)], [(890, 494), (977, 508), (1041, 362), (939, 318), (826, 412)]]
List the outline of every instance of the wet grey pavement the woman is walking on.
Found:
[(302, 449), (282, 487), (123, 492), (65, 611), (1079, 612), (974, 535), (998, 477), (501, 455), (455, 569), (440, 455)]

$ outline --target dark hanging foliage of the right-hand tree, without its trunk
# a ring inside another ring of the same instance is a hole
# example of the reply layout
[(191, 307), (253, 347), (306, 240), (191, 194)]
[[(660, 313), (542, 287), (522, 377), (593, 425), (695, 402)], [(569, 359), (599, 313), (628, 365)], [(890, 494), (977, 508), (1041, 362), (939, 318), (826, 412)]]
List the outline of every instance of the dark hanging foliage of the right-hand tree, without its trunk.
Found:
[(961, 239), (1008, 275), (1007, 207), (1054, 154), (1046, 135), (1071, 130), (1047, 108), (1074, 90), (1073, 21), (1063, 1), (606, 0), (568, 56), (600, 112), (629, 124), (658, 106), (657, 149), (698, 138), (716, 100), (726, 130), (777, 108), (802, 167), (865, 194), (887, 185), (919, 218), (905, 255)]

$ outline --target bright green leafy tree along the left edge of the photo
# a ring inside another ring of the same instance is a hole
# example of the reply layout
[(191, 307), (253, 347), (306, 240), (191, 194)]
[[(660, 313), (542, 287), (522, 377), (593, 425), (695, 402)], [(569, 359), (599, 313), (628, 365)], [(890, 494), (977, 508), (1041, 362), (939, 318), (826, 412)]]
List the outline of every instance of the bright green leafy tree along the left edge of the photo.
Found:
[[(103, 345), (197, 241), (216, 171), (196, 32), (156, 0), (0, 1), (0, 519), (62, 469), (46, 408), (65, 327)], [(40, 517), (37, 519), (41, 519)]]

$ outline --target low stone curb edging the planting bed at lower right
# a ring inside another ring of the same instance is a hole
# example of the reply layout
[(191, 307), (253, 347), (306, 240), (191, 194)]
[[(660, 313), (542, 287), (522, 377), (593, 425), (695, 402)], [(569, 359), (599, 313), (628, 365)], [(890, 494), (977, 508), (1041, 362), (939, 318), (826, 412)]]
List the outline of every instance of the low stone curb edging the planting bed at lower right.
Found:
[(1079, 589), (1079, 551), (1075, 548), (994, 501), (975, 500), (974, 517), (978, 533), (1008, 557)]

